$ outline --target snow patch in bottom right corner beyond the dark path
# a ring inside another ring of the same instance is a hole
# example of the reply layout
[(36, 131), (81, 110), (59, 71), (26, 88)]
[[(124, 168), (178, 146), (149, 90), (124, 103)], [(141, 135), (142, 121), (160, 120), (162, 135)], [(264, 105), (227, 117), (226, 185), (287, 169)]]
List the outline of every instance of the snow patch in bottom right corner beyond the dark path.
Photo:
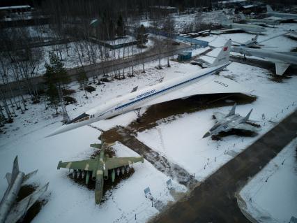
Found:
[(297, 217), (297, 138), (287, 145), (240, 192), (242, 207), (258, 222), (289, 222)]

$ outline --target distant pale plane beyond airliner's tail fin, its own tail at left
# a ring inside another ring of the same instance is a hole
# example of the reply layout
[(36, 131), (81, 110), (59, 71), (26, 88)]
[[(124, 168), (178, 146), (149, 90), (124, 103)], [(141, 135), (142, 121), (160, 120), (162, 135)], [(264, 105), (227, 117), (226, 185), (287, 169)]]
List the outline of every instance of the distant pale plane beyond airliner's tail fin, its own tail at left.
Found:
[(266, 31), (264, 27), (255, 25), (255, 24), (241, 24), (241, 23), (234, 23), (231, 20), (228, 20), (226, 15), (220, 16), (220, 23), (223, 27), (226, 27), (228, 29), (224, 29), (222, 31), (224, 32), (231, 32), (231, 31), (246, 31), (246, 32), (252, 32), (252, 33), (262, 33)]

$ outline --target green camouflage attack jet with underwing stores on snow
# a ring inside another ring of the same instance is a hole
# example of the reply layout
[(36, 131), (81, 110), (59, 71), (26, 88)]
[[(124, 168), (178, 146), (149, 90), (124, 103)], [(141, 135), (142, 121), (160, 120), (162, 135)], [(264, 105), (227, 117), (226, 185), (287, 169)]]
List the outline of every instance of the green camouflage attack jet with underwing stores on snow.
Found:
[(73, 177), (77, 176), (77, 178), (79, 178), (82, 176), (82, 178), (86, 179), (86, 185), (89, 183), (90, 178), (91, 180), (96, 181), (95, 202), (96, 204), (99, 204), (102, 199), (104, 180), (107, 180), (109, 176), (108, 171), (112, 170), (112, 182), (114, 182), (116, 175), (119, 175), (120, 172), (122, 174), (124, 174), (125, 171), (128, 172), (130, 170), (130, 166), (134, 163), (139, 161), (142, 161), (143, 163), (144, 157), (109, 158), (109, 156), (104, 152), (104, 145), (91, 144), (91, 147), (101, 149), (100, 154), (96, 156), (95, 159), (68, 162), (59, 161), (57, 168), (68, 168), (69, 170), (73, 170)]

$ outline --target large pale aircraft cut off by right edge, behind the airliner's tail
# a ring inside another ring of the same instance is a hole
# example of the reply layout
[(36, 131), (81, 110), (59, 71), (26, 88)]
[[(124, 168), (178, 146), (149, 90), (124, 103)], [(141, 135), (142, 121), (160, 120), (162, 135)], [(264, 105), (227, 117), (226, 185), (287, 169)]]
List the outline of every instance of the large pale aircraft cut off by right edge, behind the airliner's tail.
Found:
[(275, 73), (283, 75), (290, 65), (297, 65), (297, 52), (275, 52), (264, 49), (251, 49), (245, 47), (233, 47), (232, 52), (239, 52), (248, 56), (261, 57), (275, 63)]

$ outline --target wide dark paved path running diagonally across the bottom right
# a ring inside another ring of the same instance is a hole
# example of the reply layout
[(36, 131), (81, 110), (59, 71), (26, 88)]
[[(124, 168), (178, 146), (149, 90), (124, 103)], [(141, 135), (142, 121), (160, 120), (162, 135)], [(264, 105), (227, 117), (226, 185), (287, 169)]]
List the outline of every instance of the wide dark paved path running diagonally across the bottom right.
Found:
[(152, 222), (249, 222), (235, 194), (296, 138), (297, 110)]

